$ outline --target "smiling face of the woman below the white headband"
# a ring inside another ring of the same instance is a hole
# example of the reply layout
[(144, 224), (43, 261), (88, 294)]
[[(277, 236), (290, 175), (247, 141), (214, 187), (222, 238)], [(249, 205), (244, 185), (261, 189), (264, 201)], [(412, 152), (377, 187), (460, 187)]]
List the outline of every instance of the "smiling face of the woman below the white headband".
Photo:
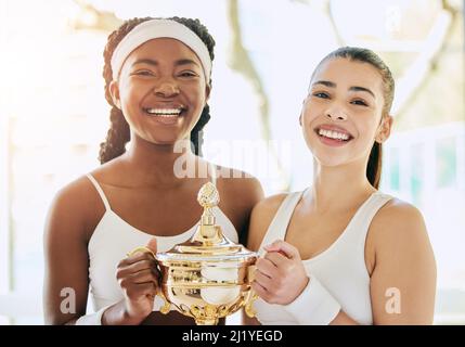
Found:
[(170, 38), (150, 40), (131, 52), (109, 88), (135, 140), (155, 144), (189, 139), (209, 95), (197, 55)]

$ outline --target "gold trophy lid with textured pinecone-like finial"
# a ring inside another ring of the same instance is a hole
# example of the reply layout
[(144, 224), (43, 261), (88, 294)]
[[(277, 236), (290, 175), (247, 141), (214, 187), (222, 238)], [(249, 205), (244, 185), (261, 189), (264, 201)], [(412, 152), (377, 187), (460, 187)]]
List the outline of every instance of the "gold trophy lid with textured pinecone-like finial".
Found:
[(256, 252), (248, 250), (243, 245), (229, 240), (223, 234), (221, 227), (216, 224), (212, 208), (218, 206), (220, 196), (215, 184), (205, 183), (198, 191), (197, 202), (204, 207), (204, 213), (194, 235), (168, 252), (157, 253), (157, 260), (242, 264), (253, 261), (258, 257)]

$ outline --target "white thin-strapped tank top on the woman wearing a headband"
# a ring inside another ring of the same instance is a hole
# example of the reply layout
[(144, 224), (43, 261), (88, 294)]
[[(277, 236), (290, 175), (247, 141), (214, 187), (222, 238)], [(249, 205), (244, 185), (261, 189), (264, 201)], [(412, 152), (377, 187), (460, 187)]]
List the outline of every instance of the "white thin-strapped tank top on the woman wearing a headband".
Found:
[[(146, 245), (152, 237), (157, 240), (158, 252), (169, 250), (176, 244), (188, 241), (195, 232), (198, 222), (188, 231), (175, 236), (157, 236), (143, 232), (115, 214), (93, 176), (89, 174), (87, 177), (95, 187), (105, 205), (105, 214), (95, 227), (88, 244), (90, 293), (93, 308), (98, 311), (124, 298), (121, 287), (116, 280), (116, 268), (118, 262), (127, 257), (128, 252)], [(215, 177), (212, 178), (212, 183), (216, 183)], [(224, 235), (237, 243), (237, 231), (231, 220), (219, 207), (215, 207), (214, 213), (217, 217), (217, 223), (221, 226)], [(176, 216), (173, 215), (172, 218), (176, 218)], [(153, 310), (158, 311), (162, 306), (163, 300), (156, 296)]]

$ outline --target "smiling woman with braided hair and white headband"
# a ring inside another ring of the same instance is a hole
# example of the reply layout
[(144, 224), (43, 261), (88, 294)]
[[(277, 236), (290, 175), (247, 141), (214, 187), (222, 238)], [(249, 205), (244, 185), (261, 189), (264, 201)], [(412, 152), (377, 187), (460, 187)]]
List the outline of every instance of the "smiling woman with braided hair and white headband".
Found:
[[(217, 222), (231, 240), (246, 240), (260, 183), (201, 157), (214, 46), (191, 18), (134, 18), (109, 35), (103, 77), (112, 110), (102, 166), (63, 188), (47, 220), (47, 323), (193, 324), (176, 311), (159, 312), (153, 256), (126, 255), (142, 244), (164, 252), (189, 240), (202, 215), (197, 192), (209, 180), (222, 197)], [(177, 150), (186, 140), (193, 145)], [(181, 157), (210, 168), (208, 175), (178, 175)], [(215, 179), (217, 170), (222, 176)], [(89, 287), (96, 312), (86, 314)]]

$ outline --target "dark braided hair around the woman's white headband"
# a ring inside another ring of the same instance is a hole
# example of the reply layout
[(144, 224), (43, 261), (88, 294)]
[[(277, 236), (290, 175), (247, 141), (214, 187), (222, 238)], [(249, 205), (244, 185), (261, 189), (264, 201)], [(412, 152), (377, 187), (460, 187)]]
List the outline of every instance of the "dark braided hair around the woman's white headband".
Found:
[[(131, 31), (137, 25), (150, 20), (154, 18), (143, 17), (128, 20), (108, 36), (108, 40), (103, 52), (103, 57), (105, 62), (103, 67), (103, 78), (105, 79), (105, 99), (112, 106), (112, 110), (109, 111), (111, 126), (106, 133), (106, 139), (100, 144), (99, 160), (101, 164), (109, 162), (113, 158), (116, 158), (124, 154), (126, 152), (126, 144), (131, 139), (129, 125), (126, 121), (121, 110), (116, 107), (112, 94), (109, 92), (109, 83), (113, 80), (113, 72), (111, 65), (113, 52), (115, 51), (118, 43), (122, 40), (122, 38), (128, 35), (129, 31)], [(194, 31), (207, 47), (211, 61), (214, 60), (215, 40), (208, 33), (207, 28), (198, 20), (183, 18), (177, 16), (170, 17), (168, 20), (176, 21)], [(209, 81), (209, 85), (211, 86), (211, 80)], [(192, 150), (196, 155), (202, 155), (202, 144), (204, 142), (203, 129), (208, 123), (208, 120), (210, 120), (210, 108), (208, 104), (206, 104), (204, 110), (202, 111), (201, 118), (191, 131)]]

